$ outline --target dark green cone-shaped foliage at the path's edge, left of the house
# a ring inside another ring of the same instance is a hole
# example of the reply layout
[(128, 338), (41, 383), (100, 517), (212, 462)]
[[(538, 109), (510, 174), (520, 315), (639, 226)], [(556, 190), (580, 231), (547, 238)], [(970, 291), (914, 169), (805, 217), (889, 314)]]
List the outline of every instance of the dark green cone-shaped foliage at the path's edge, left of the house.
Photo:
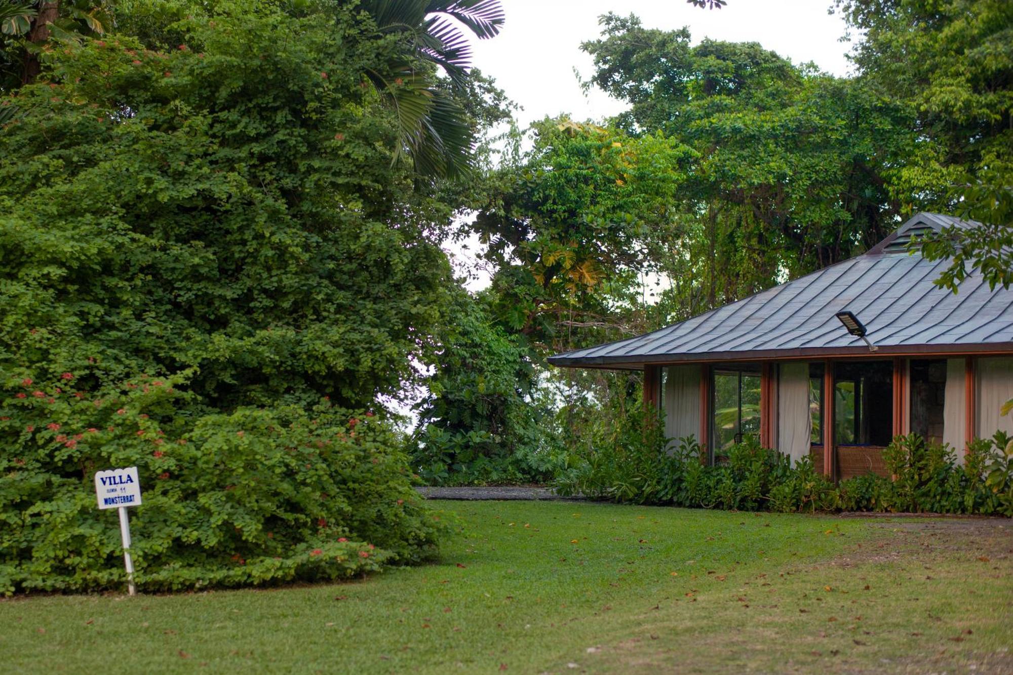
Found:
[(517, 336), (491, 322), (483, 299), (458, 294), (442, 357), (418, 403), (412, 464), (430, 484), (541, 482), (561, 461), (536, 399), (536, 371)]

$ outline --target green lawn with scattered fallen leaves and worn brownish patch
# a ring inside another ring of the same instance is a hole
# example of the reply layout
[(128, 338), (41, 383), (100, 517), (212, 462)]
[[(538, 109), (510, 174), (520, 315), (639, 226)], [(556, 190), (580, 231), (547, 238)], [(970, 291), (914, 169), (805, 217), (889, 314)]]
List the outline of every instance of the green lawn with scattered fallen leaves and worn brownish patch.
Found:
[(436, 503), (439, 562), (336, 585), (0, 602), (6, 672), (1013, 668), (1008, 523)]

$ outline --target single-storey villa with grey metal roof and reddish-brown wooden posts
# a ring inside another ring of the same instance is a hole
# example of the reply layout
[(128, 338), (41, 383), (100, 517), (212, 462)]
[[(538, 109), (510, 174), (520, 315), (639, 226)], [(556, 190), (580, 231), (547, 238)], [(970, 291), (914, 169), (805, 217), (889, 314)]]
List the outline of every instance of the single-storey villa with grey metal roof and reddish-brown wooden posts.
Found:
[(1013, 434), (1000, 416), (1013, 398), (1013, 289), (971, 274), (954, 294), (933, 284), (948, 260), (909, 252), (912, 237), (949, 225), (968, 226), (918, 214), (862, 255), (549, 363), (643, 370), (644, 400), (665, 410), (667, 435), (695, 436), (712, 462), (753, 435), (844, 479), (883, 473), (897, 434), (958, 451)]

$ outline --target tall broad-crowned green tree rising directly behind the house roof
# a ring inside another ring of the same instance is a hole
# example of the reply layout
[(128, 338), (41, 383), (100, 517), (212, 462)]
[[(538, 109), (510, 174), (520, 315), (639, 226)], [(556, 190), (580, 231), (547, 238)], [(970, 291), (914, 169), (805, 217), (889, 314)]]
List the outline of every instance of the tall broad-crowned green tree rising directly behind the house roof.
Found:
[[(755, 43), (704, 40), (602, 17), (588, 86), (629, 101), (617, 123), (661, 131), (697, 153), (681, 191), (689, 236), (672, 260), (685, 313), (864, 250), (901, 203), (882, 172), (913, 143), (905, 111), (849, 80)], [(702, 289), (702, 297), (698, 297)], [(702, 301), (702, 302), (701, 302)], [(685, 314), (684, 314), (685, 315)]]

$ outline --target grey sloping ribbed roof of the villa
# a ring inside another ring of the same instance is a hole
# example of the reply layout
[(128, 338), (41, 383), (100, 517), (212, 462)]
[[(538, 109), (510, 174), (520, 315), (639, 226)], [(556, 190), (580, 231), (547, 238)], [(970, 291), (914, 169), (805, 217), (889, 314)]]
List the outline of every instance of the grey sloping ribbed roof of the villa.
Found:
[(979, 274), (954, 294), (932, 282), (948, 260), (908, 254), (911, 236), (948, 225), (920, 213), (868, 252), (644, 335), (549, 358), (555, 366), (642, 368), (647, 363), (868, 355), (835, 314), (849, 310), (877, 355), (1013, 353), (1013, 289)]

